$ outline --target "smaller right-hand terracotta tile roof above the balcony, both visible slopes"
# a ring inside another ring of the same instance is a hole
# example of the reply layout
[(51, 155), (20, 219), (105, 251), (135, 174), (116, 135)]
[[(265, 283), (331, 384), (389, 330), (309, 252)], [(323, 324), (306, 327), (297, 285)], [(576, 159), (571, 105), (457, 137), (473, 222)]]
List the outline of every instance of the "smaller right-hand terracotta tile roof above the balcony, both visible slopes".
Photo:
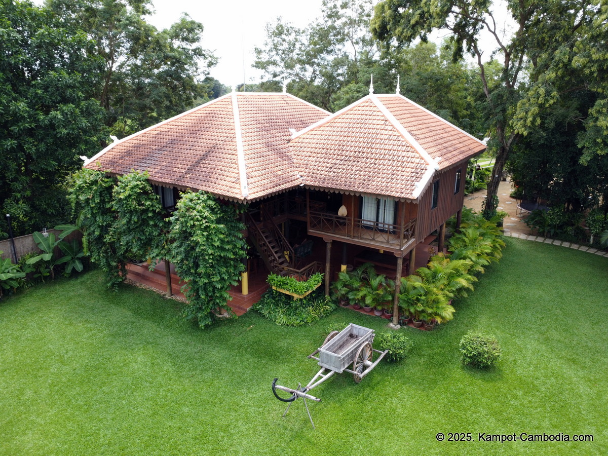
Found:
[(415, 200), (436, 170), (485, 145), (401, 95), (368, 95), (295, 134), (290, 148), (310, 187)]

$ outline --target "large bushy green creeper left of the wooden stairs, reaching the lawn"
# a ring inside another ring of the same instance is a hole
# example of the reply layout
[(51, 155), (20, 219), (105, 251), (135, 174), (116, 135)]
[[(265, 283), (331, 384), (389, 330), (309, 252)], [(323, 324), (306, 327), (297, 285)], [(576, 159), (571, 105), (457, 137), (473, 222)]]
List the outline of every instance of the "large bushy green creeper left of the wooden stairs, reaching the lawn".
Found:
[(201, 328), (213, 322), (213, 311), (230, 311), (228, 290), (244, 271), (246, 242), (239, 210), (206, 192), (184, 193), (171, 216), (168, 257), (185, 285), (184, 316)]

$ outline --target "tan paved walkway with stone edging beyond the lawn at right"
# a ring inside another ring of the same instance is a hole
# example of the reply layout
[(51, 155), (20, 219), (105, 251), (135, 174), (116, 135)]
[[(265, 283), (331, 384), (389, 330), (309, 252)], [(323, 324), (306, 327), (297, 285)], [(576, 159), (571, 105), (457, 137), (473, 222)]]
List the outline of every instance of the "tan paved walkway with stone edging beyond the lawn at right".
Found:
[[(508, 217), (505, 217), (503, 222), (505, 236), (525, 239), (528, 241), (542, 242), (545, 244), (554, 244), (556, 246), (568, 247), (570, 249), (581, 250), (582, 252), (589, 252), (590, 254), (608, 258), (608, 252), (605, 250), (598, 250), (594, 249), (593, 247), (581, 246), (580, 244), (573, 244), (531, 234), (530, 228), (523, 223), (527, 217), (527, 213), (517, 215), (517, 202), (515, 201), (515, 198), (511, 198), (511, 196), (509, 196), (510, 193), (511, 182), (500, 182), (498, 187), (499, 204), (497, 209), (504, 210), (509, 214)], [(479, 192), (471, 193), (471, 195), (465, 196), (465, 206), (475, 210), (475, 212), (482, 212), (482, 202), (487, 194), (488, 192), (486, 192), (486, 190), (480, 190)]]

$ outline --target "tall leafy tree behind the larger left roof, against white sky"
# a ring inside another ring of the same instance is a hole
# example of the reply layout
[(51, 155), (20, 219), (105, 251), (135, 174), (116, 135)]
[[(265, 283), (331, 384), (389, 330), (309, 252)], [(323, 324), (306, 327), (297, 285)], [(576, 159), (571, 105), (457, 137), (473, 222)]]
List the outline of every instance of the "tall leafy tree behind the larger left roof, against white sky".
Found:
[(199, 77), (216, 57), (199, 46), (203, 26), (184, 14), (171, 27), (148, 24), (150, 0), (47, 0), (66, 22), (78, 22), (103, 57), (97, 97), (106, 124), (126, 136), (192, 108), (206, 95)]

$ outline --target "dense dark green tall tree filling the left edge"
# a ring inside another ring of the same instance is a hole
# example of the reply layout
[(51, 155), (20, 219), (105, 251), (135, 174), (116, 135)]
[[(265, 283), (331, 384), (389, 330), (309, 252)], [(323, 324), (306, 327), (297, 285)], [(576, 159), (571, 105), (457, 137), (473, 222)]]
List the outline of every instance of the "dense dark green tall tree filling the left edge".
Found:
[(78, 25), (0, 0), (0, 206), (19, 235), (64, 221), (63, 182), (98, 150), (102, 62)]

